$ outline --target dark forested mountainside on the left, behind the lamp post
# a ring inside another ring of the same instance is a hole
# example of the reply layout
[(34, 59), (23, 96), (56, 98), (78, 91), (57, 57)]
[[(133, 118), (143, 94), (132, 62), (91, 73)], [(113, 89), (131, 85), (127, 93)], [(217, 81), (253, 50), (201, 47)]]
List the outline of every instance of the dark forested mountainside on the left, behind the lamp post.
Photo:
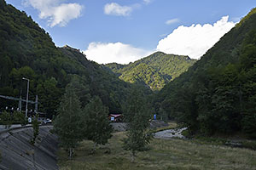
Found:
[[(25, 12), (0, 0), (0, 94), (26, 99), (26, 81), (30, 79), (29, 99), (38, 94), (39, 111), (55, 114), (68, 83), (76, 88), (82, 105), (98, 95), (110, 112), (120, 112), (130, 84), (120, 81), (101, 65), (89, 61), (78, 49), (56, 48), (49, 34)], [(1, 108), (18, 102), (0, 99)], [(25, 111), (23, 105), (22, 110)], [(34, 110), (29, 105), (29, 110)]]

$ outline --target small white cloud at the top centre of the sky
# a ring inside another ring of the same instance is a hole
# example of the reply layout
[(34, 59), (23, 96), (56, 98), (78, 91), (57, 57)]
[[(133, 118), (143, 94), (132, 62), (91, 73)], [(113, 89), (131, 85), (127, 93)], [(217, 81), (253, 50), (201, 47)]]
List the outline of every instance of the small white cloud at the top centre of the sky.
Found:
[(117, 16), (128, 16), (131, 14), (132, 7), (121, 6), (118, 3), (107, 3), (104, 7), (104, 13)]

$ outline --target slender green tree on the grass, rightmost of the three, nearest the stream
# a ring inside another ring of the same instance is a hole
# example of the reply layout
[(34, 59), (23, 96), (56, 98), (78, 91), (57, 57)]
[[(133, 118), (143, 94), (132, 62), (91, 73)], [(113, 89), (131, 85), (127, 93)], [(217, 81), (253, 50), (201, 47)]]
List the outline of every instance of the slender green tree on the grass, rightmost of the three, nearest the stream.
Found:
[(152, 139), (151, 133), (147, 131), (149, 118), (150, 111), (146, 100), (139, 89), (134, 88), (131, 91), (131, 97), (125, 111), (128, 131), (126, 133), (127, 138), (124, 139), (124, 149), (131, 150), (132, 161), (134, 161), (136, 151), (147, 150), (150, 139)]

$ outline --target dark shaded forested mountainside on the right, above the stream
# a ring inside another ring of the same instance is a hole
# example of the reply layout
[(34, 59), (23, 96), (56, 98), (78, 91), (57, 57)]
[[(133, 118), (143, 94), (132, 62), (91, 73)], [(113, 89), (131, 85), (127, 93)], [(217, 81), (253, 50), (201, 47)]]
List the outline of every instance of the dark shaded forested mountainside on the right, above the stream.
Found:
[(156, 110), (190, 133), (256, 138), (256, 8), (158, 94)]

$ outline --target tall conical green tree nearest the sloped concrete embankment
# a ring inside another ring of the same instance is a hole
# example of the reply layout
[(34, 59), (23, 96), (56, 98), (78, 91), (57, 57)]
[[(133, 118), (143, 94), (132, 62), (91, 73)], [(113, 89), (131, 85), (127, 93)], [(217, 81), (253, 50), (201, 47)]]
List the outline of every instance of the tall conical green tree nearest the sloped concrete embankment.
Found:
[(73, 157), (73, 149), (80, 140), (81, 134), (81, 107), (78, 96), (73, 88), (68, 85), (66, 94), (61, 99), (58, 115), (54, 121), (54, 132), (61, 140), (61, 146), (69, 151), (69, 158)]

